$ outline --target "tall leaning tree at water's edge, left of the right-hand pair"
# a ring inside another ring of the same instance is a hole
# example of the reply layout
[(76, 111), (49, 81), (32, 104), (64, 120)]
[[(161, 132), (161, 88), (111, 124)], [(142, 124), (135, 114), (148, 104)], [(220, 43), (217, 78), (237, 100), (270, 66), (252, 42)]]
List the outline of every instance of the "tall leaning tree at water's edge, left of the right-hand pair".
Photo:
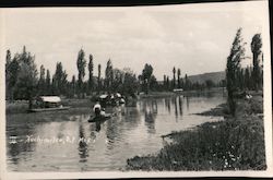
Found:
[(235, 116), (236, 101), (234, 94), (238, 89), (236, 81), (238, 79), (237, 72), (240, 71), (240, 61), (245, 56), (245, 43), (241, 37), (241, 28), (236, 33), (235, 39), (233, 41), (233, 47), (230, 53), (227, 57), (226, 64), (226, 86), (228, 93), (228, 107), (233, 116)]

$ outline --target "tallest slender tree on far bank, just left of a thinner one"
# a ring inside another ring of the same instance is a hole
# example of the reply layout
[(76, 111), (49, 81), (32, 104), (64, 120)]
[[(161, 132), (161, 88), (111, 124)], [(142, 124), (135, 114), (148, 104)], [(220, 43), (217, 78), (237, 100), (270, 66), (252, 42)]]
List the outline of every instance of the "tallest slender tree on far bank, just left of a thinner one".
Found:
[(85, 53), (81, 49), (78, 53), (76, 68), (79, 71), (78, 75), (78, 86), (79, 86), (79, 96), (83, 93), (83, 77), (85, 75), (86, 60), (84, 58)]

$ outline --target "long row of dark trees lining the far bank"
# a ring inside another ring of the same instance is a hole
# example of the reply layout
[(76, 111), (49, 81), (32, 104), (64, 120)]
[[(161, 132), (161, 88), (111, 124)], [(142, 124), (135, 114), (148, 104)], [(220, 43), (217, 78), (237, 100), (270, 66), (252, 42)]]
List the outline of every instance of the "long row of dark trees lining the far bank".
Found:
[[(88, 79), (84, 81), (88, 71)], [(138, 76), (130, 69), (114, 68), (109, 59), (105, 69), (105, 79), (102, 79), (102, 64), (97, 65), (97, 75), (94, 75), (94, 58), (88, 55), (88, 63), (85, 52), (80, 49), (76, 58), (78, 79), (72, 75), (72, 80), (68, 80), (68, 74), (61, 62), (56, 63), (55, 73), (51, 75), (48, 69), (41, 64), (39, 74), (35, 64), (35, 57), (26, 51), (15, 53), (12, 58), (11, 51), (7, 51), (5, 63), (5, 81), (7, 81), (7, 99), (29, 99), (37, 95), (63, 95), (67, 97), (84, 97), (92, 93), (99, 94), (103, 92), (120, 92), (133, 95), (136, 92), (150, 91), (173, 91), (174, 88), (185, 89), (203, 89), (204, 84), (191, 83), (187, 74), (181, 79), (180, 69), (173, 69), (174, 79), (164, 75), (163, 83), (157, 82), (153, 74), (153, 67), (145, 64), (142, 73)], [(176, 77), (177, 75), (177, 77)], [(129, 81), (130, 80), (130, 81)], [(214, 85), (212, 85), (214, 86)]]

